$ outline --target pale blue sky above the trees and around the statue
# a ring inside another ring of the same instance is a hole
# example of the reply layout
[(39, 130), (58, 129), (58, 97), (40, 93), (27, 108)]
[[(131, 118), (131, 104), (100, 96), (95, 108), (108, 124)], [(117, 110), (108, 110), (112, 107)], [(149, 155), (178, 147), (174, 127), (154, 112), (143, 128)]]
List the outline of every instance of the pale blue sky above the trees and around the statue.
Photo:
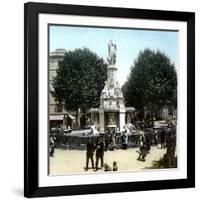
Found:
[(175, 31), (139, 29), (75, 27), (51, 25), (49, 28), (50, 52), (57, 48), (74, 50), (86, 47), (105, 61), (108, 57), (108, 43), (112, 39), (117, 45), (118, 81), (122, 86), (138, 53), (145, 48), (160, 50), (177, 63), (177, 39)]

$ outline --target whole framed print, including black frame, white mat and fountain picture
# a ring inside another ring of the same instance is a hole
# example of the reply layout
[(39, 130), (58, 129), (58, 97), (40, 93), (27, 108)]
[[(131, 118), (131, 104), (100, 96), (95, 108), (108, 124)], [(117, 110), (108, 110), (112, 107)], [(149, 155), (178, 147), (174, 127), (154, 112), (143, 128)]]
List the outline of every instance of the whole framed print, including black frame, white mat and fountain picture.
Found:
[(24, 195), (194, 187), (195, 14), (24, 11)]

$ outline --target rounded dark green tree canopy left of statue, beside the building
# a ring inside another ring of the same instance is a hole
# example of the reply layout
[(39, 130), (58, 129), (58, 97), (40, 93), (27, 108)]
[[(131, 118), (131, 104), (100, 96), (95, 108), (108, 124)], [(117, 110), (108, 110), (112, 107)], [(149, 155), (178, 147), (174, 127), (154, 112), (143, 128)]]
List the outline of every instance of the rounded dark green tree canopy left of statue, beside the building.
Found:
[(105, 61), (87, 48), (68, 51), (59, 61), (51, 93), (66, 110), (85, 111), (99, 106), (106, 69)]

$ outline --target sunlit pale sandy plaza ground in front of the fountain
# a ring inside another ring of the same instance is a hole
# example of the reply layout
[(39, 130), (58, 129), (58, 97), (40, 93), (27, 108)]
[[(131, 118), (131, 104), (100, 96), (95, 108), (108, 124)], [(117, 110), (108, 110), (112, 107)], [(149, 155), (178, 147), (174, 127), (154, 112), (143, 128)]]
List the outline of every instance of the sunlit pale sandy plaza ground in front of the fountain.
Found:
[[(127, 150), (106, 151), (104, 153), (104, 163), (112, 167), (112, 162), (117, 161), (119, 171), (138, 171), (152, 167), (154, 161), (158, 161), (166, 153), (166, 149), (151, 147), (147, 154), (146, 161), (138, 161), (139, 148), (129, 148)], [(95, 156), (94, 156), (95, 162)], [(55, 149), (54, 157), (50, 157), (50, 175), (61, 175), (67, 173), (91, 173), (92, 169), (85, 172), (86, 151)], [(99, 163), (100, 165), (100, 163)], [(89, 166), (91, 163), (89, 162)], [(103, 169), (97, 172), (102, 172)], [(93, 172), (93, 173), (97, 173)]]

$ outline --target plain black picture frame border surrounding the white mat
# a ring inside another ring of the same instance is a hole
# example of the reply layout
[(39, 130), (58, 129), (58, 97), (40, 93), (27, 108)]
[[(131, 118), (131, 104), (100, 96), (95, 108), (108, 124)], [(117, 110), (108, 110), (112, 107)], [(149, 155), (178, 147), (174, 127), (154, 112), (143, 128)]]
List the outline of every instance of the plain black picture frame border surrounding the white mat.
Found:
[[(106, 16), (187, 22), (187, 178), (39, 187), (38, 15)], [(195, 13), (46, 3), (24, 5), (24, 195), (44, 197), (195, 187)]]

